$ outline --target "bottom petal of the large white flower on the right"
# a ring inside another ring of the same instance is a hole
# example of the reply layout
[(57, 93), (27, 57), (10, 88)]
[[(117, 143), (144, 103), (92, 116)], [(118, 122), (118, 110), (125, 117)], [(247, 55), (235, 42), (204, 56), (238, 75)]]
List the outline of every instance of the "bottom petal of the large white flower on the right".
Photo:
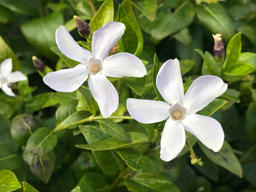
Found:
[(186, 142), (185, 130), (178, 120), (169, 118), (162, 132), (160, 158), (171, 161), (182, 151)]

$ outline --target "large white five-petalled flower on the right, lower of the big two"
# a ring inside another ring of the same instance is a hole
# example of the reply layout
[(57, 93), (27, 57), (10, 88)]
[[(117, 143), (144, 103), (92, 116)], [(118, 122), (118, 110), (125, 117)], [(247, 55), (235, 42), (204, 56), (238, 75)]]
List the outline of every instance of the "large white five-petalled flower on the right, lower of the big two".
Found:
[(162, 136), (160, 158), (171, 161), (183, 149), (185, 130), (195, 135), (204, 145), (218, 152), (224, 142), (224, 132), (213, 118), (197, 115), (216, 97), (222, 95), (228, 85), (219, 77), (201, 76), (191, 84), (185, 96), (180, 63), (177, 59), (166, 61), (157, 75), (157, 87), (168, 102), (127, 99), (130, 115), (141, 123), (155, 123), (166, 120)]

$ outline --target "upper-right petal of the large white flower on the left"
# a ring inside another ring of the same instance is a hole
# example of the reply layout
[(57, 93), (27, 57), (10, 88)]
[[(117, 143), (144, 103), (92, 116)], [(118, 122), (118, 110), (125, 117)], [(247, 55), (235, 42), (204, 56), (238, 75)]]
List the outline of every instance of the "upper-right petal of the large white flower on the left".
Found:
[(92, 36), (92, 54), (96, 59), (104, 60), (110, 49), (121, 39), (125, 25), (120, 22), (110, 22), (103, 25)]

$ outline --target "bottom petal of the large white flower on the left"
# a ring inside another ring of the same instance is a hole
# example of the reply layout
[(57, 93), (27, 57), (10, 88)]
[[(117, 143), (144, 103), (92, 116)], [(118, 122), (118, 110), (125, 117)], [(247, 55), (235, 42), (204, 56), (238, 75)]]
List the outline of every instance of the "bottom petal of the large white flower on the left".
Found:
[(109, 117), (118, 108), (119, 98), (116, 88), (105, 75), (100, 73), (90, 74), (88, 85), (93, 98), (98, 103), (102, 117)]

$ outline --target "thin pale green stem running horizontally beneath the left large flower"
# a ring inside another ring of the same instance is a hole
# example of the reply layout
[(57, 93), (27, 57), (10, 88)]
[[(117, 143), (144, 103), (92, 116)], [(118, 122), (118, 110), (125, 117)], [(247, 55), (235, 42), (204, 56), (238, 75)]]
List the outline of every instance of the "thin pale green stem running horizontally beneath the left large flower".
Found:
[(64, 125), (62, 126), (61, 124), (59, 124), (52, 132), (59, 132), (59, 131), (62, 131), (64, 129), (67, 129), (73, 125), (78, 125), (78, 124), (82, 124), (82, 123), (85, 123), (85, 122), (89, 122), (89, 121), (93, 121), (93, 120), (104, 120), (104, 119), (110, 119), (110, 120), (133, 120), (134, 118), (132, 118), (131, 116), (110, 116), (108, 118), (103, 118), (102, 116), (97, 116), (97, 117), (94, 117), (94, 115), (90, 116), (90, 117), (87, 117), (83, 120), (78, 120), (78, 121), (75, 121), (73, 123), (70, 123), (68, 125)]

